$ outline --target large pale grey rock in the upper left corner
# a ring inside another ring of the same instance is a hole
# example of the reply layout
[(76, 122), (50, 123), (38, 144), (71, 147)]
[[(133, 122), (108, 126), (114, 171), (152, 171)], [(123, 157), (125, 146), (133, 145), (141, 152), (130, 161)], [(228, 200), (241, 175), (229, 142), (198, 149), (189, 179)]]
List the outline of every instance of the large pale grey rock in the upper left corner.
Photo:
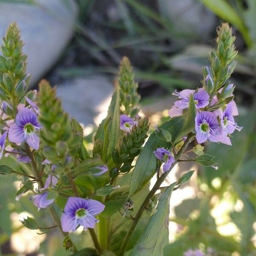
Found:
[(42, 78), (58, 60), (73, 35), (77, 7), (73, 0), (35, 0), (37, 5), (0, 3), (0, 36), (16, 21), (28, 55), (30, 85)]

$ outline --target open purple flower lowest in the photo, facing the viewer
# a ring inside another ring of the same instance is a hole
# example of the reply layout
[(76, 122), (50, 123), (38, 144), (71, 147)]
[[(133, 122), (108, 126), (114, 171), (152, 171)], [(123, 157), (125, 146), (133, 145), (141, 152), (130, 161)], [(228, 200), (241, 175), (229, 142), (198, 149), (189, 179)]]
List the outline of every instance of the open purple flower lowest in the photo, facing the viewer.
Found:
[(81, 225), (84, 228), (94, 228), (98, 220), (94, 217), (101, 213), (105, 205), (93, 199), (69, 197), (61, 216), (61, 226), (64, 232), (76, 230)]

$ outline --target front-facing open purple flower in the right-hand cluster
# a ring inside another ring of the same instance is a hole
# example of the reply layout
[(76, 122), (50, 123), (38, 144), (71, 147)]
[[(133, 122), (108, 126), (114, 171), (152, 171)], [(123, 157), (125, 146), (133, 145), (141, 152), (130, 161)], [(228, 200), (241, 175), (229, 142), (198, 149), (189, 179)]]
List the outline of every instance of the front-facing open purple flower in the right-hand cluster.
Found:
[(207, 141), (218, 142), (221, 140), (221, 128), (218, 126), (217, 117), (208, 111), (202, 111), (195, 116), (196, 140), (198, 143)]

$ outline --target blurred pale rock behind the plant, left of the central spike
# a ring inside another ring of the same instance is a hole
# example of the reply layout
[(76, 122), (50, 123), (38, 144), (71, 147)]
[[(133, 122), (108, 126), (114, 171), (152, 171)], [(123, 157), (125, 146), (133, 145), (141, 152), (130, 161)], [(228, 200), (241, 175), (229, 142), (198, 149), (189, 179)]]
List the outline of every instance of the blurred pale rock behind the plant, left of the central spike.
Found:
[(57, 87), (64, 110), (84, 125), (99, 125), (107, 116), (113, 83), (105, 76), (76, 78)]

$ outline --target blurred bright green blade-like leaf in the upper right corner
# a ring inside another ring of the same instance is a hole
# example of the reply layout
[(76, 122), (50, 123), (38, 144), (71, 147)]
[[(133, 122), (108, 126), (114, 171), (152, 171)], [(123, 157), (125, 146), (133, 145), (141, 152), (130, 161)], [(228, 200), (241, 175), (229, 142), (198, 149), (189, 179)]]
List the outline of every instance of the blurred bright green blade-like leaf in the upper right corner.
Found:
[(220, 18), (227, 20), (229, 23), (236, 26), (243, 35), (246, 44), (249, 46), (251, 45), (251, 38), (247, 27), (239, 14), (226, 0), (201, 0), (201, 2)]

